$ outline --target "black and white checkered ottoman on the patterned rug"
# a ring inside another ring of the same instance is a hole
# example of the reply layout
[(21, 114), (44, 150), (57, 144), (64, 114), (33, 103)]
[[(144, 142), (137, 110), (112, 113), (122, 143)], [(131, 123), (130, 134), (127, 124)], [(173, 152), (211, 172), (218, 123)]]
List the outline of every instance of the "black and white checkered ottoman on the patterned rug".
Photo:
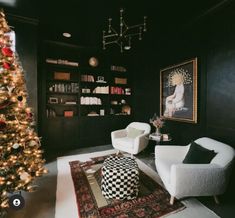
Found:
[(133, 199), (139, 192), (139, 168), (131, 157), (110, 156), (102, 167), (102, 194), (107, 199)]

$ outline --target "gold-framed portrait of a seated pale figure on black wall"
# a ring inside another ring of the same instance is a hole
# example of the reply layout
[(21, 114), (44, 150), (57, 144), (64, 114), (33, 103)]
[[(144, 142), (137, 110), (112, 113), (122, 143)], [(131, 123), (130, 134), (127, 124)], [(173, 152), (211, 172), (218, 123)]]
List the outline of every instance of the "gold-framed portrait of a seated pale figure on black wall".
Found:
[(197, 58), (160, 70), (160, 115), (197, 123)]

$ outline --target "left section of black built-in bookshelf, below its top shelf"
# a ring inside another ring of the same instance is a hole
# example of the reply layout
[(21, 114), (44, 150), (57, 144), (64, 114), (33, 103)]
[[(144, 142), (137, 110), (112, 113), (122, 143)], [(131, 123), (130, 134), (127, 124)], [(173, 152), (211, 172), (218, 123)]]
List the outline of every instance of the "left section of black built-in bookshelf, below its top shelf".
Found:
[(47, 118), (79, 116), (79, 76), (73, 68), (47, 64)]

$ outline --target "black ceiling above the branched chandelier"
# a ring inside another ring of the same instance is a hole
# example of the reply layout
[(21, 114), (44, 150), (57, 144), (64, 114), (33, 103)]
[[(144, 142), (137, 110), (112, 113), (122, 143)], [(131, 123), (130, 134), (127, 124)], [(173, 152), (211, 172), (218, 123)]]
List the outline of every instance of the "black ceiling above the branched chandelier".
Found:
[[(148, 32), (144, 40), (181, 31), (229, 7), (232, 0), (0, 0), (6, 14), (29, 17), (39, 22), (40, 35), (46, 39), (67, 41), (82, 46), (101, 45), (107, 19), (118, 28), (119, 9), (125, 9), (128, 24), (140, 23), (147, 16)], [(70, 32), (72, 38), (61, 37)]]

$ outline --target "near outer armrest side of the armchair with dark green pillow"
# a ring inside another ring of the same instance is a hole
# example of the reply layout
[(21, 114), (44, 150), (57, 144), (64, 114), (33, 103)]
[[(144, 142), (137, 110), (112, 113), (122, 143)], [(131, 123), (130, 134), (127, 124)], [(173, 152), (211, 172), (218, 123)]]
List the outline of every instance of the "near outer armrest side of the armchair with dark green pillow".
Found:
[(173, 164), (171, 194), (177, 197), (215, 195), (224, 192), (225, 171), (217, 164)]

